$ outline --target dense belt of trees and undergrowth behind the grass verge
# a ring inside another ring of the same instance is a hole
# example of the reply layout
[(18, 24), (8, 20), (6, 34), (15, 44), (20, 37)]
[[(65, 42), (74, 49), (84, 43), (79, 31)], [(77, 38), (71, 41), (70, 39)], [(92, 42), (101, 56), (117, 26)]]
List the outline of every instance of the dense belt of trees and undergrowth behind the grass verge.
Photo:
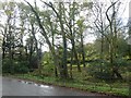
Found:
[(3, 73), (128, 82), (131, 27), (119, 0), (36, 1), (0, 2)]

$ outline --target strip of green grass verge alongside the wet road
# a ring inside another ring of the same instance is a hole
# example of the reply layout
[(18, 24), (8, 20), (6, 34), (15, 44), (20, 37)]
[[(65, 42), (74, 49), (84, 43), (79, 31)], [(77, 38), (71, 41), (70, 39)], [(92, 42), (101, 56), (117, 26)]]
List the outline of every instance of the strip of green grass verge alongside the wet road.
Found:
[(121, 97), (128, 97), (129, 96), (129, 87), (128, 84), (116, 82), (111, 84), (112, 88), (110, 88), (110, 85), (105, 82), (91, 82), (91, 81), (80, 81), (80, 78), (74, 79), (60, 79), (56, 78), (53, 76), (35, 76), (33, 74), (15, 74), (15, 75), (7, 75), (11, 77), (16, 77), (21, 79), (27, 79), (33, 81), (40, 84), (48, 84), (48, 85), (57, 85), (57, 86), (63, 86), (63, 87), (70, 87), (70, 88), (76, 88), (81, 90), (86, 91), (93, 91), (93, 93), (103, 93), (107, 95), (114, 95), (114, 96), (121, 96)]

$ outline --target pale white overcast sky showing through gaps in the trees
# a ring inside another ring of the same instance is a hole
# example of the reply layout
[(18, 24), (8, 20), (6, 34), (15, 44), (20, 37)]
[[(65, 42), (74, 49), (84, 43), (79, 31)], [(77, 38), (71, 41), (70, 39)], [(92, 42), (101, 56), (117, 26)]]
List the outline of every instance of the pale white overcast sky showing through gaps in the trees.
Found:
[[(21, 2), (21, 1), (24, 1), (24, 0), (0, 0), (0, 1), (16, 1), (16, 2)], [(34, 0), (26, 0), (28, 1), (31, 4), (34, 4)], [(44, 0), (44, 1), (55, 1), (55, 0)], [(69, 1), (72, 1), (72, 0), (57, 0), (57, 1), (63, 1), (63, 2), (69, 2)], [(85, 1), (85, 0), (75, 0), (76, 2), (82, 2), (82, 1)], [(91, 0), (86, 0), (86, 1), (91, 1)], [(98, 2), (110, 2), (111, 0), (97, 0)], [(116, 1), (116, 0), (114, 0)], [(121, 12), (120, 12), (120, 15), (121, 15), (121, 19), (123, 20), (124, 24), (127, 24), (128, 22), (128, 19), (129, 19), (129, 2), (131, 0), (120, 0), (121, 1)], [(40, 0), (36, 0), (36, 3), (38, 7), (41, 7), (43, 3), (40, 2)], [(131, 4), (130, 4), (131, 5)], [(131, 7), (130, 7), (131, 9)], [(131, 11), (131, 10), (130, 10)], [(130, 12), (131, 14), (131, 12)], [(131, 16), (131, 15), (130, 15)], [(4, 19), (0, 19), (0, 22), (4, 22)], [(95, 37), (93, 35), (87, 35), (86, 38), (85, 38), (85, 44), (87, 42), (93, 42), (95, 40)], [(48, 47), (47, 45), (45, 45), (43, 47), (43, 50), (44, 51), (47, 51), (48, 50)]]

